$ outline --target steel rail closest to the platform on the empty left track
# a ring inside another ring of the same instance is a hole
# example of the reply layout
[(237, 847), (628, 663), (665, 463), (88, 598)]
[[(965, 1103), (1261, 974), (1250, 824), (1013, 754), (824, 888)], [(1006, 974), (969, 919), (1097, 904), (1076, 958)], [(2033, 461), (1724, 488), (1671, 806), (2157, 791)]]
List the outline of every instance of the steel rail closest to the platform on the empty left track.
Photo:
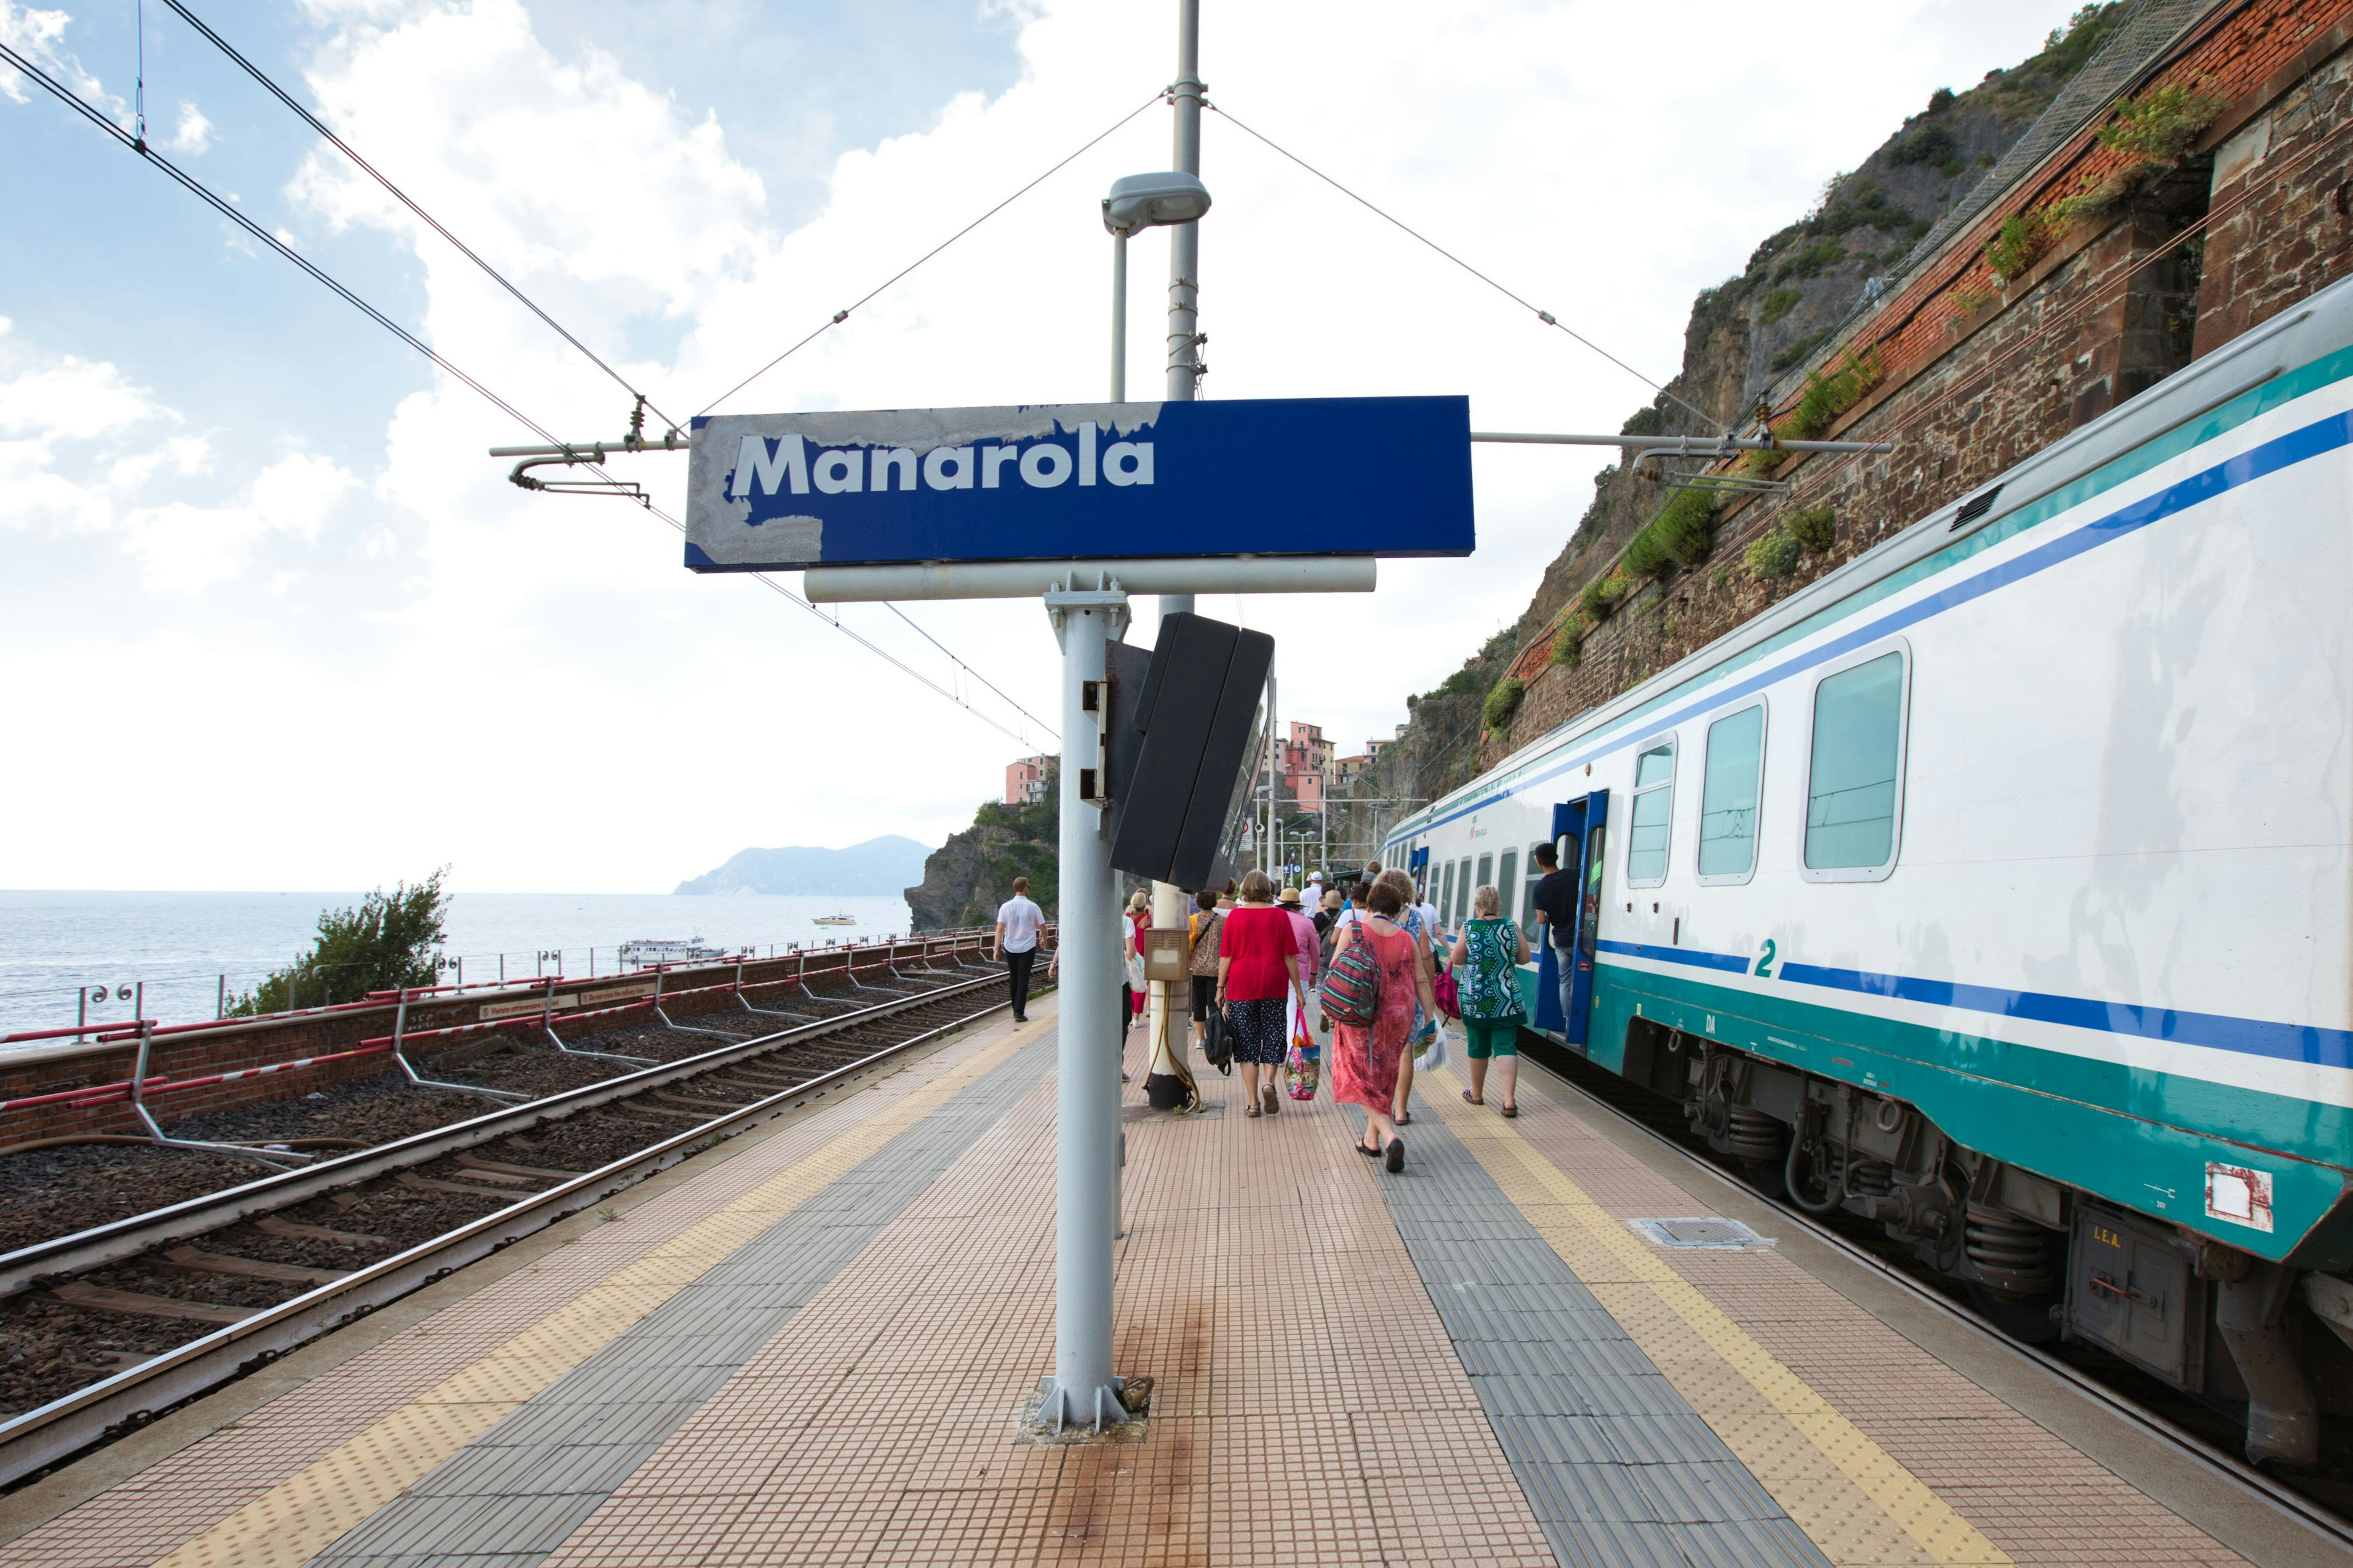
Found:
[[(986, 983), (976, 980), (974, 987), (976, 985)], [(967, 990), (972, 987), (944, 987), (944, 992), (951, 994), (962, 994)], [(936, 994), (932, 999), (936, 999)], [(922, 997), (908, 997), (906, 1001), (922, 1001)], [(148, 1361), (127, 1366), (111, 1378), (14, 1415), (0, 1422), (0, 1488), (71, 1460), (94, 1443), (136, 1432), (165, 1410), (195, 1399), (198, 1394), (205, 1394), (242, 1373), (259, 1371), (308, 1340), (376, 1312), (412, 1291), (421, 1291), (428, 1284), (447, 1279), (468, 1262), (478, 1262), (489, 1253), (529, 1237), (532, 1232), (546, 1229), (567, 1215), (600, 1204), (647, 1175), (715, 1147), (725, 1138), (734, 1138), (760, 1121), (779, 1117), (795, 1105), (845, 1084), (849, 1077), (875, 1067), (878, 1063), (913, 1051), (915, 1046), (939, 1039), (941, 1034), (960, 1030), (979, 1018), (988, 1018), (1005, 1006), (1005, 1001), (993, 1001), (974, 1013), (929, 1027), (913, 1039), (882, 1046), (880, 1051), (861, 1056), (854, 1063), (821, 1072), (807, 1084), (779, 1088), (776, 1093), (753, 1100), (751, 1105), (741, 1105), (713, 1117), (711, 1121), (689, 1126), (682, 1133), (664, 1138), (661, 1143), (638, 1150), (635, 1154), (624, 1154), (621, 1159), (576, 1175), (558, 1187), (551, 1187), (548, 1192), (522, 1194), (506, 1208), (487, 1213), (480, 1220), (471, 1220), (431, 1241), (421, 1241), (402, 1253), (384, 1258), (381, 1262), (353, 1269), (332, 1284), (304, 1291), (301, 1295), (282, 1300), (275, 1307), (261, 1307), (252, 1316), (226, 1324), (207, 1335), (188, 1340), (186, 1345), (151, 1356)], [(885, 1004), (880, 1009), (852, 1013), (849, 1018), (871, 1020), (873, 1016), (889, 1011), (904, 1009)], [(828, 1023), (849, 1023), (849, 1018)], [(798, 1030), (788, 1030), (786, 1034), (795, 1032)], [(711, 1058), (704, 1056), (694, 1060), (708, 1063)], [(546, 1105), (546, 1100), (539, 1105)], [(513, 1121), (513, 1117), (482, 1117), (478, 1121), (492, 1119)], [(313, 1171), (299, 1171), (296, 1175), (311, 1173)]]

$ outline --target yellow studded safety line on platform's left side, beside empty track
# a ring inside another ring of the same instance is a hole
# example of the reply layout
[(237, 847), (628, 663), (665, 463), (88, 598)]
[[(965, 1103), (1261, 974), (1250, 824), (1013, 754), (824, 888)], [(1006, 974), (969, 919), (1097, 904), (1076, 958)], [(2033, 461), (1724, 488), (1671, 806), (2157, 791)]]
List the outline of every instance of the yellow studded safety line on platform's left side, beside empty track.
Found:
[[(419, 1394), (341, 1448), (320, 1455), (228, 1519), (184, 1542), (155, 1568), (299, 1568), (311, 1561), (421, 1481), (435, 1465), (489, 1432), (532, 1394), (586, 1361), (647, 1312), (725, 1262), (739, 1246), (1005, 1063), (1035, 1039), (1045, 1023), (1040, 1018), (1016, 1027), (960, 1067), (696, 1220), (473, 1366)], [(266, 1420), (266, 1413), (252, 1420)]]

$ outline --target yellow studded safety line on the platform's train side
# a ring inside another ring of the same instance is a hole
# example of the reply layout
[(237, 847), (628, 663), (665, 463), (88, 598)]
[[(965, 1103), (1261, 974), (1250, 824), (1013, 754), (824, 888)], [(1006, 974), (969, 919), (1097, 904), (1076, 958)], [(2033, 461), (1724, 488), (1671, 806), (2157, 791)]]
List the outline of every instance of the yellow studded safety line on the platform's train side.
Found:
[[(1697, 1333), (1718, 1356), (1722, 1356), (1732, 1368), (1746, 1378), (1758, 1394), (1762, 1394), (1774, 1410), (1788, 1420), (1805, 1439), (1819, 1448), (1840, 1472), (1845, 1472), (1854, 1486), (1859, 1486), (1887, 1516), (1904, 1528), (1932, 1561), (1946, 1563), (1951, 1568), (2009, 1568), (2009, 1556), (1986, 1540), (1977, 1526), (1953, 1512), (1953, 1507), (1939, 1497), (1920, 1476), (1911, 1474), (1889, 1455), (1885, 1448), (1864, 1436), (1845, 1415), (1840, 1415), (1831, 1401), (1817, 1394), (1798, 1373), (1793, 1373), (1779, 1356), (1758, 1345), (1748, 1333), (1734, 1324), (1722, 1307), (1701, 1295), (1692, 1281), (1678, 1274), (1664, 1258), (1659, 1258), (1647, 1241), (1626, 1229), (1619, 1220), (1609, 1215), (1607, 1208), (1595, 1204), (1584, 1187), (1579, 1187), (1569, 1175), (1553, 1164), (1537, 1145), (1532, 1145), (1520, 1131), (1494, 1117), (1492, 1112), (1480, 1114), (1457, 1098), (1459, 1081), (1449, 1070), (1438, 1070), (1428, 1074), (1431, 1079), (1431, 1103), (1438, 1105), (1438, 1114), (1445, 1119), (1447, 1128), (1478, 1157), (1478, 1161), (1494, 1175), (1504, 1194), (1527, 1213), (1529, 1222), (1537, 1225), (1539, 1234), (1560, 1253), (1560, 1260), (1577, 1269), (1569, 1253), (1562, 1248), (1555, 1227), (1539, 1218), (1541, 1206), (1532, 1206), (1522, 1194), (1529, 1185), (1539, 1187), (1551, 1204), (1558, 1204), (1569, 1220), (1577, 1222), (1581, 1237), (1598, 1244), (1619, 1262), (1628, 1276), (1649, 1288), (1649, 1293), (1664, 1305), (1675, 1319), (1680, 1319), (1692, 1333)], [(1534, 1197), (1534, 1194), (1529, 1194)], [(1581, 1274), (1581, 1272), (1579, 1272)], [(1591, 1281), (1588, 1281), (1591, 1284)], [(1614, 1312), (1621, 1326), (1645, 1352), (1649, 1345), (1640, 1321), (1640, 1312), (1626, 1314)], [(1638, 1321), (1628, 1321), (1628, 1316)], [(1654, 1354), (1654, 1361), (1659, 1356)], [(1675, 1382), (1680, 1392), (1689, 1399), (1694, 1389), (1682, 1387), (1682, 1378), (1675, 1375), (1673, 1363), (1661, 1363), (1668, 1382)], [(1689, 1373), (1685, 1373), (1689, 1375)], [(1694, 1399), (1694, 1406), (1699, 1401)], [(1708, 1410), (1699, 1410), (1701, 1420), (1708, 1420)], [(1708, 1420), (1725, 1441), (1734, 1439), (1718, 1420)], [(1746, 1434), (1744, 1434), (1746, 1439)], [(1739, 1448), (1744, 1443), (1734, 1443)], [(1774, 1500), (1791, 1512), (1807, 1535), (1814, 1537), (1826, 1552), (1831, 1549), (1835, 1533), (1819, 1523), (1817, 1519), (1800, 1516), (1795, 1500), (1784, 1497), (1769, 1476), (1758, 1476)], [(1833, 1561), (1838, 1556), (1833, 1554)]]

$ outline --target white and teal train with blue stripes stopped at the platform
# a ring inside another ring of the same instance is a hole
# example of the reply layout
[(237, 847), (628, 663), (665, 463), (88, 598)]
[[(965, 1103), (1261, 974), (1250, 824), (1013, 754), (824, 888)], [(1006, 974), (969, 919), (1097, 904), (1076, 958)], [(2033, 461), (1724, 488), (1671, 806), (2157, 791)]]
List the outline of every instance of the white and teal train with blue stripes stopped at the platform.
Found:
[[(1901, 456), (1901, 454), (1899, 454)], [(2353, 282), (1402, 818), (1529, 1027), (2259, 1465), (2353, 1415)], [(1541, 938), (1539, 938), (1541, 940)]]

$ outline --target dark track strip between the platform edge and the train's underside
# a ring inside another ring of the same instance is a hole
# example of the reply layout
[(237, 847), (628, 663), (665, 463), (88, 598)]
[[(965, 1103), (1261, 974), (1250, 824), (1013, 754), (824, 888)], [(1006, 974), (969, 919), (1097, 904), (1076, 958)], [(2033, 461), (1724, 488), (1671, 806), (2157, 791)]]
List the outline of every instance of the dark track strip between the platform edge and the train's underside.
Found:
[[(2162, 1385), (2153, 1387), (2158, 1387), (2160, 1394), (2169, 1396), (2167, 1408), (2165, 1410), (2153, 1408), (2153, 1401), (2141, 1389), (2134, 1387), (2137, 1382), (2146, 1380), (2132, 1373), (2132, 1368), (2125, 1368), (2122, 1363), (2118, 1363), (2115, 1368), (2101, 1366), (2092, 1356), (2087, 1356), (2085, 1363), (2078, 1366), (2059, 1354), (2052, 1354), (2049, 1349), (2019, 1340), (2017, 1335), (2007, 1333), (2000, 1324), (1991, 1321), (1981, 1312), (1974, 1312), (1965, 1300), (1958, 1300), (1955, 1295), (1946, 1293), (1937, 1284), (1934, 1274), (1918, 1267), (1906, 1267), (1904, 1258), (1892, 1258), (1868, 1246), (1871, 1237), (1852, 1234), (1842, 1225), (1826, 1225), (1824, 1220), (1795, 1208), (1793, 1204), (1786, 1204), (1758, 1190), (1758, 1185), (1746, 1180), (1746, 1175), (1737, 1166), (1715, 1159), (1713, 1150), (1682, 1133), (1682, 1110), (1673, 1100), (1654, 1095), (1612, 1072), (1593, 1067), (1591, 1063), (1572, 1056), (1569, 1051), (1562, 1051), (1551, 1041), (1532, 1044), (1525, 1032), (1520, 1041), (1522, 1041), (1520, 1044), (1522, 1056), (1546, 1067), (1558, 1081), (1577, 1091), (1584, 1100), (1617, 1117), (1619, 1121), (1635, 1128), (1659, 1147), (1673, 1152), (1685, 1164), (1708, 1173), (1711, 1178), (1741, 1192), (1751, 1201), (1772, 1206), (1777, 1215), (1781, 1215), (1781, 1222), (1805, 1229), (1824, 1246), (1835, 1248), (1852, 1262), (1871, 1269), (1873, 1274), (1899, 1286), (1901, 1291), (1925, 1302), (1927, 1307), (1934, 1307), (1955, 1324), (1969, 1328), (1991, 1345), (1998, 1345), (2000, 1349), (2017, 1356), (2026, 1366), (2064, 1385), (2078, 1399), (2106, 1410), (2108, 1415), (2127, 1422), (2129, 1427), (2137, 1427), (2139, 1432), (2148, 1434), (2151, 1439), (2155, 1439), (2186, 1462), (2207, 1472), (2224, 1486), (2238, 1490), (2249, 1502), (2257, 1502), (2259, 1507), (2268, 1509), (2285, 1523), (2306, 1530), (2315, 1540), (2327, 1542), (2339, 1552), (2353, 1552), (2353, 1519), (2332, 1507), (2332, 1502), (2337, 1502), (2339, 1497), (2353, 1497), (2353, 1486), (2348, 1486), (2346, 1479), (2341, 1476), (2308, 1479), (2306, 1483), (2315, 1493), (2322, 1493), (2322, 1495), (2308, 1495), (2306, 1490), (2299, 1490), (2297, 1486), (2282, 1481), (2280, 1476), (2273, 1476), (2268, 1472), (2247, 1465), (2228, 1448), (2217, 1446), (2219, 1441), (2228, 1441), (2228, 1434), (2240, 1432), (2240, 1422), (2205, 1422), (2200, 1420), (2205, 1406), (2198, 1406), (2186, 1396), (2177, 1396), (2172, 1394), (2172, 1389), (2162, 1389)], [(1835, 1215), (1831, 1218), (1835, 1220)], [(2212, 1432), (2198, 1432), (2195, 1427), (2209, 1427)]]

